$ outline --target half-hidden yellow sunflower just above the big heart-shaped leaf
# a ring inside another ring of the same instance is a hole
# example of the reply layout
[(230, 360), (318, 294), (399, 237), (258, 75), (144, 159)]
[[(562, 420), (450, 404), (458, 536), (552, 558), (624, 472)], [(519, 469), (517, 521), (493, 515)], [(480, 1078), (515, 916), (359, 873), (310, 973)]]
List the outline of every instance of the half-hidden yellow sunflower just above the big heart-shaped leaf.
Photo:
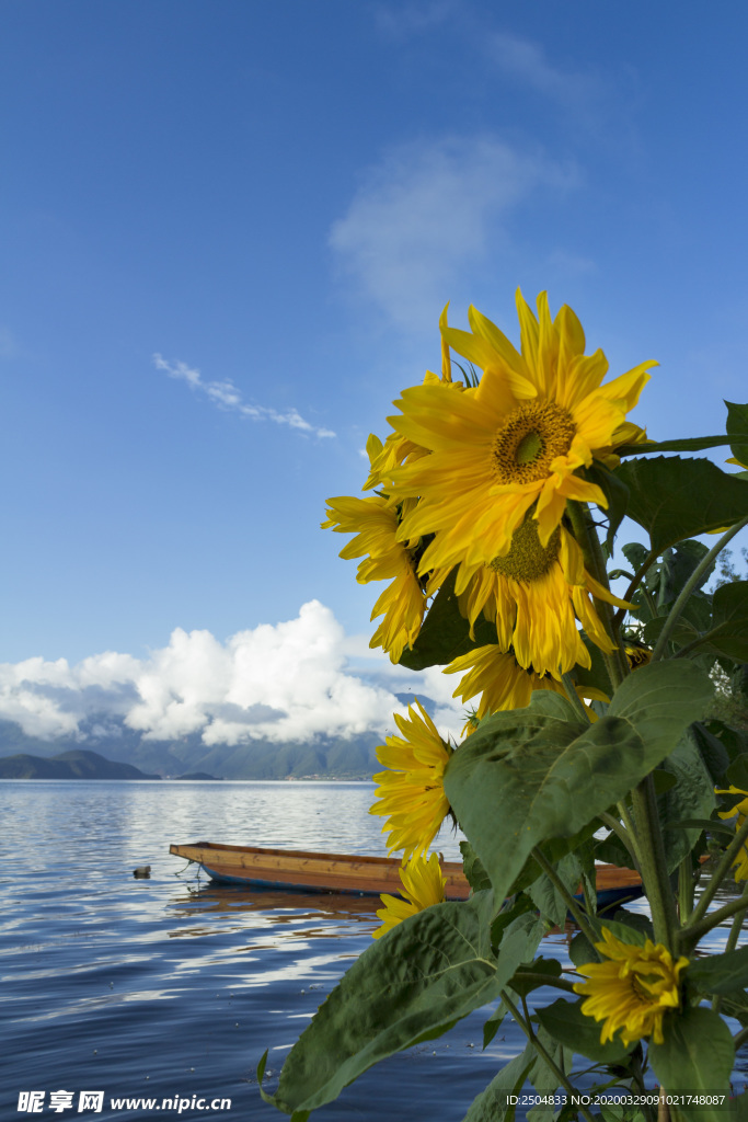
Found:
[[(475, 721), (500, 709), (526, 709), (533, 690), (564, 693), (561, 682), (525, 670), (511, 651), (502, 651), (496, 644), (461, 654), (444, 668), (444, 673), (459, 674), (465, 670), (468, 673), (460, 680), (452, 697), (459, 697), (464, 703), (478, 693), (482, 695), (473, 715)], [(472, 724), (472, 717), (469, 724)]]

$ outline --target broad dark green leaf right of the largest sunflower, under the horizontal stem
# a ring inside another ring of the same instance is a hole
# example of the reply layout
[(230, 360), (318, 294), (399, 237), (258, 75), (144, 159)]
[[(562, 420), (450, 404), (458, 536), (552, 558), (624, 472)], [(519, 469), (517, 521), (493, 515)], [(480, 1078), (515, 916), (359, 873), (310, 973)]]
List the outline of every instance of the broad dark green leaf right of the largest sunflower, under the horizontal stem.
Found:
[(629, 488), (629, 518), (648, 531), (657, 553), (748, 514), (746, 481), (720, 471), (711, 460), (628, 460), (617, 475)]

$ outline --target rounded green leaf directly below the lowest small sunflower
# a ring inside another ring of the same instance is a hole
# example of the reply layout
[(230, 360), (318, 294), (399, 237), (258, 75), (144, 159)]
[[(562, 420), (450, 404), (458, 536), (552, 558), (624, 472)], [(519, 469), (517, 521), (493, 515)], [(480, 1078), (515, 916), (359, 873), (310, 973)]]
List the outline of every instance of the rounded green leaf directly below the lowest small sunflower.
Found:
[[(649, 1043), (649, 1063), (672, 1094), (730, 1094), (735, 1046), (727, 1024), (710, 1009), (671, 1013), (663, 1022), (664, 1042)], [(694, 1122), (720, 1122), (724, 1107), (678, 1105)]]

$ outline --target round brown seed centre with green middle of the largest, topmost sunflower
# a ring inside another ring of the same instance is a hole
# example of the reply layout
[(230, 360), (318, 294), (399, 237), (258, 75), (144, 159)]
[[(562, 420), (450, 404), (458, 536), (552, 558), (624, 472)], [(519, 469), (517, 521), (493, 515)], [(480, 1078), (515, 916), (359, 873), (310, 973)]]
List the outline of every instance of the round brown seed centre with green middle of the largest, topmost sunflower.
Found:
[(571, 448), (576, 425), (554, 402), (524, 402), (493, 438), (493, 472), (500, 484), (530, 484), (551, 471), (556, 456)]

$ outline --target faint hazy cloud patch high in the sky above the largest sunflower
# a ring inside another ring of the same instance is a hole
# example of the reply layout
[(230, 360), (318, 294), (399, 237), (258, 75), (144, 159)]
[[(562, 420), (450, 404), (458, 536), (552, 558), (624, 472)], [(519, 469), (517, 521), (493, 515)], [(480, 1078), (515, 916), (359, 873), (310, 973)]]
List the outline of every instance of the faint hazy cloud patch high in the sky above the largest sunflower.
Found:
[(343, 274), (401, 327), (431, 324), (455, 276), (488, 258), (510, 209), (575, 176), (492, 136), (405, 145), (371, 168), (330, 245)]

